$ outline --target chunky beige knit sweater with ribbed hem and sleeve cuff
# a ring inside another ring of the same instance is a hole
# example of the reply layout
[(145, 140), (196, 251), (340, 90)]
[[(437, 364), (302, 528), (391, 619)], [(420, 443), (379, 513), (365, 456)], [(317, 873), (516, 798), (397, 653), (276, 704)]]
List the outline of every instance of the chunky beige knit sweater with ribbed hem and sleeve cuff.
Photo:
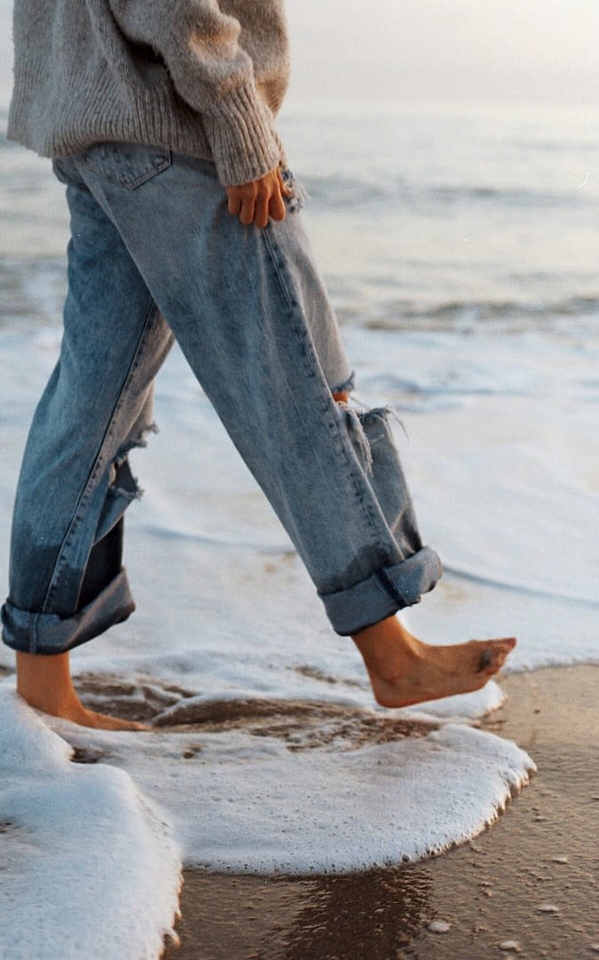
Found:
[(283, 160), (283, 0), (14, 0), (13, 38), (9, 137), (41, 156), (147, 143), (227, 185)]

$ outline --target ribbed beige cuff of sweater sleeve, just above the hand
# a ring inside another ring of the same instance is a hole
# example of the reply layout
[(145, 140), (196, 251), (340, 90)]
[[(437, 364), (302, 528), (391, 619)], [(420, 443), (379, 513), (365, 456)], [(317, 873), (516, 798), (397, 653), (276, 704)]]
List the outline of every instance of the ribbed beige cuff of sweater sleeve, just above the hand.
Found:
[(206, 136), (225, 186), (264, 177), (282, 160), (273, 118), (255, 87), (243, 86), (202, 115)]

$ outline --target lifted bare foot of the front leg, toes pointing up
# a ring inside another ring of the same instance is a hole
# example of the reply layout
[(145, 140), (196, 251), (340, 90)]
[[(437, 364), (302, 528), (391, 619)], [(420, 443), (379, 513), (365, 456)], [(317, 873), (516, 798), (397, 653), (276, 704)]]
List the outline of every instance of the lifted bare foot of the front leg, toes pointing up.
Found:
[(353, 637), (381, 707), (410, 707), (484, 686), (516, 646), (513, 636), (430, 646), (409, 634), (397, 617)]

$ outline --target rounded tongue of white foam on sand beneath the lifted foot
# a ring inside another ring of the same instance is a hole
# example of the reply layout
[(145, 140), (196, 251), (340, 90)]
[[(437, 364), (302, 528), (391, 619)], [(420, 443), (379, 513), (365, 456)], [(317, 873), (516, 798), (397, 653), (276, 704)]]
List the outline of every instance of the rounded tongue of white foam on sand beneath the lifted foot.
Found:
[(346, 873), (417, 860), (479, 833), (535, 770), (515, 743), (454, 723), (357, 749), (293, 751), (239, 729), (132, 740), (60, 730), (159, 799), (186, 864), (217, 871)]

